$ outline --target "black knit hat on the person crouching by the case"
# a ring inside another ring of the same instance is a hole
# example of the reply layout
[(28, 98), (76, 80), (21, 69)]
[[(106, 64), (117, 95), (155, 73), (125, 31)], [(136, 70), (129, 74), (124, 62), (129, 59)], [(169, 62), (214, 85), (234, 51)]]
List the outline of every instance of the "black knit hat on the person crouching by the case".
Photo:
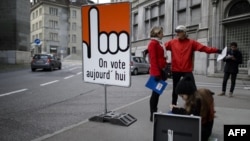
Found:
[(191, 95), (194, 94), (194, 92), (197, 90), (194, 82), (192, 81), (190, 76), (186, 76), (184, 78), (182, 78), (176, 88), (175, 88), (175, 92), (176, 94), (187, 94), (187, 95)]

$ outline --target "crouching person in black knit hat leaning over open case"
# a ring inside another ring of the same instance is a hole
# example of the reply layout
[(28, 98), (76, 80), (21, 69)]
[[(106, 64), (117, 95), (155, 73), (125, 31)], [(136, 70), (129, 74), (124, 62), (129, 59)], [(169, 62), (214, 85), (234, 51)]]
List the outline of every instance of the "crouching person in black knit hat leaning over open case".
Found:
[(209, 89), (196, 89), (191, 77), (184, 77), (176, 86), (176, 93), (182, 97), (184, 107), (170, 105), (173, 114), (201, 117), (201, 141), (208, 141), (212, 134), (215, 110), (214, 93)]

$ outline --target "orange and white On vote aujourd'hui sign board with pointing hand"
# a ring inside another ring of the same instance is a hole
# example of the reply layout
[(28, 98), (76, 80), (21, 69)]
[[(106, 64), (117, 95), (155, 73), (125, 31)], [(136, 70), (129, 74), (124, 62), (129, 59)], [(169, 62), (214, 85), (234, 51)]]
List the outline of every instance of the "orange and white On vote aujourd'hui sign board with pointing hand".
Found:
[(130, 86), (129, 2), (83, 6), (82, 35), (83, 81)]

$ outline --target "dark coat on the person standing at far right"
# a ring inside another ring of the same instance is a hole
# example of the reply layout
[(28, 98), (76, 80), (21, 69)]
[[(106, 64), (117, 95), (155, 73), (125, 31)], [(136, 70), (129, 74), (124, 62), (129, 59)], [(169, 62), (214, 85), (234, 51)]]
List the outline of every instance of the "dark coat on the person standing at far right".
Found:
[[(227, 56), (231, 55), (235, 57), (235, 60), (232, 58), (228, 58)], [(223, 59), (224, 62), (226, 62), (224, 67), (225, 73), (238, 73), (239, 72), (239, 64), (242, 64), (242, 54), (239, 50), (229, 50), (227, 52), (226, 57)]]

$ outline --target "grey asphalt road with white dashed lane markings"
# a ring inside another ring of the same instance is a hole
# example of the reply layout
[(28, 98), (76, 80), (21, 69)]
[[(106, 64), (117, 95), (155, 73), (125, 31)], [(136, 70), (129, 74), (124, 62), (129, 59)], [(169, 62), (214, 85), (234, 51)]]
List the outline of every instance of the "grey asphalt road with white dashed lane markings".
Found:
[[(132, 76), (132, 82), (145, 77)], [(83, 82), (79, 62), (63, 62), (62, 70), (52, 72), (0, 73), (0, 79), (1, 141), (32, 140), (104, 112), (104, 86)], [(108, 110), (147, 96), (132, 85), (107, 87)]]

